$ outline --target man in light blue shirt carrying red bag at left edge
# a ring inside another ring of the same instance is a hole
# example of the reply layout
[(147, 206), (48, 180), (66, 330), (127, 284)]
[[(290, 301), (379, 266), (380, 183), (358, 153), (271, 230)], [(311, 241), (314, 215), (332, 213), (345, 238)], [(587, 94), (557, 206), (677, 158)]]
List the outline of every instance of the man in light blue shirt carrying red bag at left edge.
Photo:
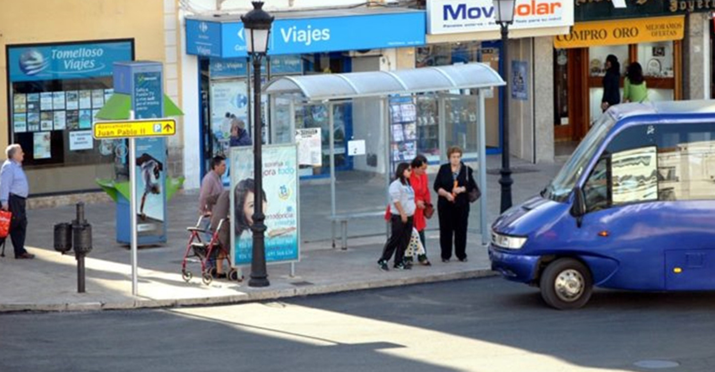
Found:
[[(10, 220), (10, 239), (15, 249), (15, 258), (35, 258), (34, 254), (25, 250), (25, 233), (27, 230), (27, 216), (25, 213), (25, 199), (30, 191), (27, 176), (22, 170), (24, 152), (19, 144), (11, 144), (5, 149), (7, 160), (0, 169), (0, 203), (5, 211), (12, 213)], [(0, 244), (5, 238), (0, 239)]]

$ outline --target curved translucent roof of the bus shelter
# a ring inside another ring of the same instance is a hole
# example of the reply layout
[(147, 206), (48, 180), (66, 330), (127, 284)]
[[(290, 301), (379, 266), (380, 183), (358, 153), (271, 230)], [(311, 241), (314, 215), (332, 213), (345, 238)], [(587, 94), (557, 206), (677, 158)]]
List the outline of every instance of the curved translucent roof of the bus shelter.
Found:
[(451, 89), (503, 86), (501, 76), (486, 64), (458, 64), (398, 71), (281, 76), (263, 89), (267, 94), (302, 94), (308, 101), (351, 99)]

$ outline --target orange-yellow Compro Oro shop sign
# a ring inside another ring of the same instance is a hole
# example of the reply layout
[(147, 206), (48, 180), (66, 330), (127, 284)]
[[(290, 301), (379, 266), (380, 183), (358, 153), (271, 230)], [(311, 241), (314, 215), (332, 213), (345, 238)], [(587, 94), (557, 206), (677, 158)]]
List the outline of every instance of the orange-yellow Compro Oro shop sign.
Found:
[(684, 16), (581, 22), (573, 26), (571, 34), (554, 36), (553, 46), (556, 48), (586, 48), (598, 45), (681, 40), (684, 29)]

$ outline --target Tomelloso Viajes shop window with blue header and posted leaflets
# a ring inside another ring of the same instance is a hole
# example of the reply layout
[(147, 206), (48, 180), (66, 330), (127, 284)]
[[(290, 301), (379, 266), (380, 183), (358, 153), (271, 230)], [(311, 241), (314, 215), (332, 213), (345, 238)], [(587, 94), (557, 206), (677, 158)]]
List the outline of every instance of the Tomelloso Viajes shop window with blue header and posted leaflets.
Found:
[[(123, 168), (124, 141), (92, 138), (114, 93), (113, 64), (134, 59), (133, 39), (6, 46), (9, 138), (25, 153), (33, 194), (97, 189)], [(116, 164), (116, 165), (115, 165)]]

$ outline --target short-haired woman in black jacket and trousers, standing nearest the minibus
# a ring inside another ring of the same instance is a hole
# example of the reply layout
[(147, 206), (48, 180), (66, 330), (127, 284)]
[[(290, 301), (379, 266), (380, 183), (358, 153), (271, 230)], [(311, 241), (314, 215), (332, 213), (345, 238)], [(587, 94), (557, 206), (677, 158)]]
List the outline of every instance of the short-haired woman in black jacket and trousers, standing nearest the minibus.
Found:
[(472, 169), (462, 163), (462, 149), (452, 146), (447, 151), (448, 164), (440, 166), (434, 189), (439, 195), (437, 213), (440, 217), (440, 248), (442, 262), (452, 257), (452, 236), (454, 253), (459, 261), (467, 261), (467, 222), (469, 219), (468, 188), (473, 187)]

